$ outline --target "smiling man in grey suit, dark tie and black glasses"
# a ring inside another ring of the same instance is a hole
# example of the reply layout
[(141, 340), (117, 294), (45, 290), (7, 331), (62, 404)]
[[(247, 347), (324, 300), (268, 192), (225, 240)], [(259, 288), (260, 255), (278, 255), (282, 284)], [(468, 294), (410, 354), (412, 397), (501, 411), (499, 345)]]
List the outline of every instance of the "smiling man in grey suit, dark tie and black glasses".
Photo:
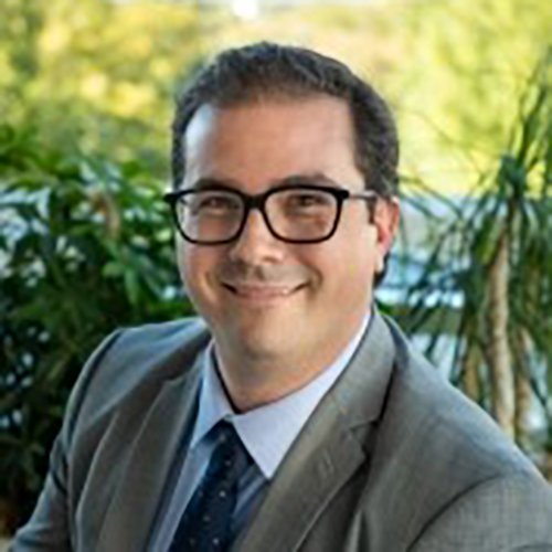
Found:
[(552, 551), (552, 492), (373, 306), (399, 221), (376, 93), (307, 50), (221, 54), (179, 102), (201, 319), (118, 331), (15, 551)]

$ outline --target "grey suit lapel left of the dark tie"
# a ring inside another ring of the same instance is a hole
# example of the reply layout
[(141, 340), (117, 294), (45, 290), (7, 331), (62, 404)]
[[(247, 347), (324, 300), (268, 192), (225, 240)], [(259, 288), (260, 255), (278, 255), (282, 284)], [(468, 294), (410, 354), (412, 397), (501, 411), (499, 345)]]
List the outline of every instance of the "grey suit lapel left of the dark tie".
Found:
[[(152, 406), (138, 436), (129, 443), (132, 447), (127, 460), (129, 468), (123, 470), (124, 478), (109, 505), (96, 550), (119, 552), (146, 548), (171, 466), (193, 426), (202, 362), (200, 355), (184, 375), (162, 382), (161, 389), (157, 388), (157, 397), (150, 397), (150, 402), (147, 397), (136, 401)], [(151, 388), (151, 383), (145, 384), (145, 389)], [(140, 415), (136, 406), (134, 415)]]

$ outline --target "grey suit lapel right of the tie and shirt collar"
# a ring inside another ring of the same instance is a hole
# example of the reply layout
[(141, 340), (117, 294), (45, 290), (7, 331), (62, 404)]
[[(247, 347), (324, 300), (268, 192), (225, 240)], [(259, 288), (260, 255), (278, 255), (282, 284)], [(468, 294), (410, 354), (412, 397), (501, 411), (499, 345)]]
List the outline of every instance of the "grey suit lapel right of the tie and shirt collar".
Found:
[(383, 410), (393, 360), (390, 331), (375, 312), (350, 365), (301, 431), (233, 550), (298, 550), (331, 499), (368, 461), (369, 434)]

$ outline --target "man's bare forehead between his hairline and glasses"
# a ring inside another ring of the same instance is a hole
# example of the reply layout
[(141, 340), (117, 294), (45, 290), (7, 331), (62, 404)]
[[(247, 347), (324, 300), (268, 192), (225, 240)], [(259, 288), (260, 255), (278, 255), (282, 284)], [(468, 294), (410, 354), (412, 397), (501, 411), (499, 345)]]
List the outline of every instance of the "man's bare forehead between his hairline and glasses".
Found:
[(348, 104), (330, 96), (203, 105), (184, 137), (185, 180), (268, 182), (291, 174), (329, 178), (355, 170)]

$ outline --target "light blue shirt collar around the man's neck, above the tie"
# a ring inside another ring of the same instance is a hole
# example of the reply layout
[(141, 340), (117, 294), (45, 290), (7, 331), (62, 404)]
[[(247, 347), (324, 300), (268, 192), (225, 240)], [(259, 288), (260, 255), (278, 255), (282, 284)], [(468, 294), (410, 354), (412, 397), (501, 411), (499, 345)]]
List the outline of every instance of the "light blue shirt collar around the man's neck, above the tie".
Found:
[(272, 479), (307, 420), (351, 360), (368, 328), (370, 316), (370, 312), (365, 316), (361, 328), (336, 362), (305, 388), (244, 414), (235, 413), (229, 401), (211, 343), (205, 354), (198, 420), (190, 447), (198, 446), (214, 425), (225, 420), (234, 425), (265, 478)]

